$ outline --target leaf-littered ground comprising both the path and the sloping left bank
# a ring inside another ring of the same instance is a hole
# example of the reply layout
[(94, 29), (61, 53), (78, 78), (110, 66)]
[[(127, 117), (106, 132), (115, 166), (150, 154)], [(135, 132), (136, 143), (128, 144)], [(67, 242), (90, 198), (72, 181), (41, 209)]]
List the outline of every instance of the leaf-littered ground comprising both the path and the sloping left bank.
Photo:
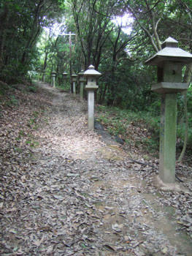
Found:
[(157, 189), (158, 159), (88, 131), (87, 103), (45, 83), (0, 110), (0, 255), (192, 255), (191, 167)]

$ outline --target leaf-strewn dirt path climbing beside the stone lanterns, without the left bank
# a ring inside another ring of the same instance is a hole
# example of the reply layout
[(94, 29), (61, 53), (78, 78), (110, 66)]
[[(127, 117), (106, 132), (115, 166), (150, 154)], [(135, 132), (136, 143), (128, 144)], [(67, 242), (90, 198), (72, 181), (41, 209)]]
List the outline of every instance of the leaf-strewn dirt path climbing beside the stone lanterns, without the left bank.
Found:
[(41, 86), (53, 109), (23, 177), (28, 196), (2, 219), (9, 246), (1, 255), (191, 256), (190, 189), (155, 189), (153, 168), (88, 131), (86, 102)]

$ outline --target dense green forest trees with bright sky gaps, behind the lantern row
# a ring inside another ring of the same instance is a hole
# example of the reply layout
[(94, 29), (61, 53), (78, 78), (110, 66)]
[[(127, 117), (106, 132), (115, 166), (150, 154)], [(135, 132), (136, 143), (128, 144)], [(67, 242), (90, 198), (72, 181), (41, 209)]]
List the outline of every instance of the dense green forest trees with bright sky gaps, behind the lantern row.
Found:
[[(113, 22), (125, 14), (134, 20), (127, 20), (128, 34)], [(93, 64), (102, 73), (100, 103), (143, 109), (156, 99), (156, 72), (145, 60), (169, 36), (191, 52), (191, 17), (190, 0), (2, 0), (0, 80), (12, 83), (41, 69), (58, 72), (60, 84), (62, 72)], [(191, 66), (183, 79), (191, 80)]]

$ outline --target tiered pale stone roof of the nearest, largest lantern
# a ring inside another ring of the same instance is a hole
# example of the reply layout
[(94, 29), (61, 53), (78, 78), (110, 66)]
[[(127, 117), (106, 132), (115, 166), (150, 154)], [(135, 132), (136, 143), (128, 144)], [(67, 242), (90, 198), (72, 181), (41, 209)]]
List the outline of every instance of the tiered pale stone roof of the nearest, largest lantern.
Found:
[(192, 62), (192, 54), (178, 48), (177, 40), (172, 37), (168, 37), (161, 47), (162, 50), (159, 50), (158, 53), (145, 61), (145, 64), (161, 66), (164, 61), (181, 62), (183, 64)]

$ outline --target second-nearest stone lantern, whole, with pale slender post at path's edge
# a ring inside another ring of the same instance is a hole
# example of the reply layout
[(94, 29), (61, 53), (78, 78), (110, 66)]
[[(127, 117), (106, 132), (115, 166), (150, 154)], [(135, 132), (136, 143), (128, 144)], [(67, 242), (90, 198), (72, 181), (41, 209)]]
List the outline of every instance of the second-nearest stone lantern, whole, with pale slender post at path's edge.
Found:
[(84, 72), (84, 76), (88, 78), (85, 86), (85, 90), (88, 91), (88, 129), (94, 129), (94, 91), (99, 87), (96, 85), (96, 78), (100, 75), (101, 73), (96, 71), (93, 65)]

